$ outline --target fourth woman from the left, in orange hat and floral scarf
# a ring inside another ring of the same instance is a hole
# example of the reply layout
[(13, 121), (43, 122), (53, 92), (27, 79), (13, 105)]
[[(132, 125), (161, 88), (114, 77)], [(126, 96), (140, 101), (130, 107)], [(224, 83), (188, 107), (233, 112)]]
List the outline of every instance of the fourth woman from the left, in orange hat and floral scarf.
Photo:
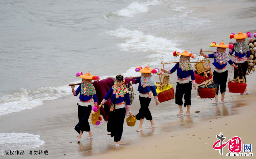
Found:
[[(175, 57), (180, 55), (179, 63), (177, 63), (171, 70), (164, 70), (161, 69), (162, 72), (172, 74), (177, 70), (177, 86), (175, 91), (175, 104), (178, 104), (179, 106), (179, 113), (177, 116), (180, 116), (183, 114), (182, 109), (182, 98), (184, 94), (184, 107), (187, 106), (187, 111), (183, 116), (190, 115), (190, 107), (191, 107), (191, 90), (192, 90), (192, 83), (193, 87), (196, 90), (195, 85), (195, 75), (192, 68), (192, 65), (190, 64), (190, 57), (196, 58), (196, 54), (188, 53), (187, 50), (183, 51), (182, 53), (174, 52), (173, 55)], [(192, 80), (192, 83), (191, 83)]]

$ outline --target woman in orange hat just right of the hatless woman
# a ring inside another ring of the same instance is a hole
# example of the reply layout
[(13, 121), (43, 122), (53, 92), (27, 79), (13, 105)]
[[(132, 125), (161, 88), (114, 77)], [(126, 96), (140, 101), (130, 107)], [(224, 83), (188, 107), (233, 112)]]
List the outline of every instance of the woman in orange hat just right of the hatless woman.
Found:
[(156, 105), (159, 104), (157, 93), (156, 93), (156, 86), (155, 81), (151, 78), (151, 73), (159, 72), (158, 68), (152, 69), (146, 66), (145, 68), (136, 67), (136, 72), (141, 72), (141, 78), (135, 80), (135, 83), (139, 83), (138, 91), (140, 93), (139, 100), (141, 104), (141, 108), (139, 113), (136, 116), (137, 120), (140, 120), (139, 128), (136, 131), (142, 130), (142, 124), (144, 122), (144, 118), (151, 122), (151, 126), (149, 128), (154, 128), (155, 123), (152, 119), (152, 115), (148, 109), (149, 103), (151, 101), (151, 96), (153, 93), (154, 99), (156, 100)]

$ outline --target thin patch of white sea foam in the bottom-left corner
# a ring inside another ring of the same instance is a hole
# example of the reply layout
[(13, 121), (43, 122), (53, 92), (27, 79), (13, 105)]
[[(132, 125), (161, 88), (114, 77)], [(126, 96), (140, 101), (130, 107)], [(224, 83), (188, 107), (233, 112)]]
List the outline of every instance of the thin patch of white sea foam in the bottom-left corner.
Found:
[[(0, 155), (5, 151), (25, 150), (40, 147), (44, 140), (39, 135), (28, 133), (0, 133)], [(27, 152), (25, 152), (27, 153)]]

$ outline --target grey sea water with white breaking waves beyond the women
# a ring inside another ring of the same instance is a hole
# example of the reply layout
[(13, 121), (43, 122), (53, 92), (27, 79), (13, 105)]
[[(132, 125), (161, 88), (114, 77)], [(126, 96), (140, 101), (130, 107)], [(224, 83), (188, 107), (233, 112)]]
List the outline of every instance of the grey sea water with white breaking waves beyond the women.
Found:
[(137, 66), (175, 61), (197, 18), (185, 1), (1, 1), (0, 115), (70, 94), (77, 72), (139, 76)]

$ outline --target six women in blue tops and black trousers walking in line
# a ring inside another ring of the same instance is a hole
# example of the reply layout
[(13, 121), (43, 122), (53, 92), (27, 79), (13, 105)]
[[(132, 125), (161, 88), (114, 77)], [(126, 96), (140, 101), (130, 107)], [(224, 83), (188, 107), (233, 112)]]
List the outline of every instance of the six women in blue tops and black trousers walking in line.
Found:
[[(205, 58), (214, 58), (213, 65), (215, 69), (213, 72), (213, 81), (215, 84), (217, 84), (217, 91), (213, 104), (217, 104), (218, 102), (219, 88), (221, 93), (221, 103), (224, 103), (224, 95), (228, 78), (228, 70), (226, 68), (227, 63), (234, 67), (234, 78), (237, 76), (240, 78), (244, 76), (245, 78), (250, 57), (249, 47), (245, 43), (245, 38), (247, 37), (250, 37), (249, 32), (246, 34), (241, 32), (238, 34), (232, 33), (230, 38), (235, 38), (236, 43), (230, 43), (230, 45), (224, 44), (223, 41), (220, 42), (220, 44), (211, 43), (210, 47), (216, 47), (216, 52), (210, 55), (205, 55), (203, 52), (199, 53)], [(229, 58), (228, 53), (226, 53), (226, 48), (229, 48), (230, 55), (235, 53), (236, 57), (234, 62)], [(197, 89), (195, 85), (194, 71), (192, 65), (190, 64), (190, 57), (196, 58), (196, 54), (188, 53), (187, 50), (185, 50), (182, 53), (175, 51), (173, 55), (175, 57), (180, 56), (179, 62), (171, 70), (161, 69), (161, 72), (172, 74), (177, 70), (177, 86), (175, 93), (175, 103), (179, 106), (179, 113), (177, 113), (177, 116), (183, 115), (183, 95), (184, 107), (187, 107), (187, 111), (183, 116), (187, 116), (190, 115), (192, 84), (193, 88), (195, 90)], [(144, 68), (136, 67), (135, 71), (141, 72), (141, 77), (135, 80), (135, 83), (139, 83), (138, 91), (140, 93), (139, 101), (141, 105), (139, 113), (135, 115), (136, 119), (140, 121), (139, 127), (136, 131), (142, 131), (144, 118), (150, 121), (151, 125), (149, 128), (154, 128), (155, 125), (148, 106), (152, 98), (154, 98), (156, 105), (159, 104), (155, 81), (151, 78), (151, 74), (156, 74), (160, 70), (157, 68), (152, 69), (146, 66)], [(79, 123), (75, 126), (75, 130), (79, 133), (77, 141), (80, 141), (81, 135), (84, 131), (89, 133), (89, 137), (87, 139), (91, 139), (93, 136), (90, 130), (88, 118), (90, 116), (92, 106), (98, 105), (96, 91), (92, 85), (92, 80), (98, 80), (99, 78), (92, 76), (89, 72), (86, 74), (78, 72), (77, 77), (82, 78), (82, 83), (79, 85), (76, 91), (74, 90), (75, 86), (71, 86), (71, 89), (74, 96), (79, 94)], [(247, 89), (245, 90), (245, 93), (249, 93)], [(102, 105), (105, 104), (108, 99), (111, 100), (112, 105), (110, 107), (107, 131), (111, 133), (111, 137), (114, 137), (114, 141), (116, 142), (115, 146), (118, 147), (119, 141), (121, 140), (123, 134), (123, 123), (125, 119), (126, 108), (129, 112), (129, 116), (132, 116), (129, 91), (125, 86), (125, 78), (121, 74), (115, 77), (114, 85), (110, 88), (105, 98), (98, 105), (98, 108), (102, 107)]]

